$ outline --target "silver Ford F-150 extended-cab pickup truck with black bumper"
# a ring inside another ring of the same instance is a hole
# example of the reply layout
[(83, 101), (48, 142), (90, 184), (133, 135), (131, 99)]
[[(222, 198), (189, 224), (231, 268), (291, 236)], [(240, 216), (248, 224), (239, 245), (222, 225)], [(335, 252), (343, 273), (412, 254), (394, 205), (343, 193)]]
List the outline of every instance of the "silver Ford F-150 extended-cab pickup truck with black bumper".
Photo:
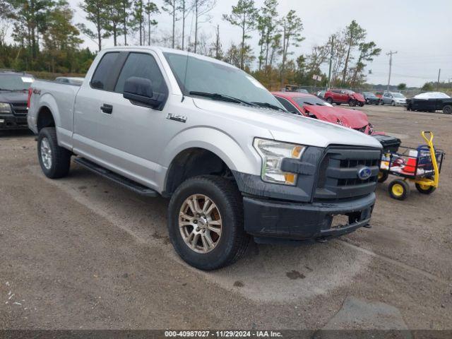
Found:
[(177, 253), (212, 270), (249, 243), (326, 240), (367, 227), (381, 144), (287, 112), (234, 66), (160, 47), (103, 49), (80, 86), (36, 81), (28, 124), (44, 174), (74, 162), (171, 198)]

